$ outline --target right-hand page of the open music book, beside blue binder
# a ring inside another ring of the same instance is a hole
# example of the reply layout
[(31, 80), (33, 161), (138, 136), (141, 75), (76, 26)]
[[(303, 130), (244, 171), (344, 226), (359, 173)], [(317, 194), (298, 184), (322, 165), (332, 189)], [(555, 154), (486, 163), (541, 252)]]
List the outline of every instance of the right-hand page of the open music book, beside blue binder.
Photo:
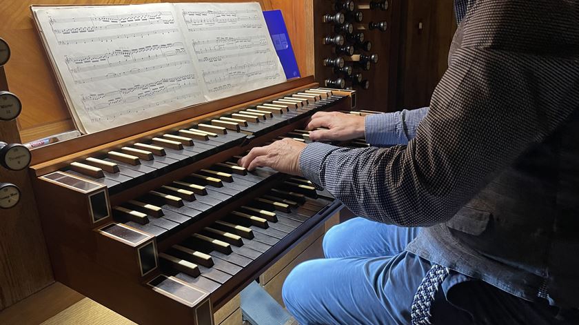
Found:
[(259, 3), (176, 3), (208, 100), (286, 81)]

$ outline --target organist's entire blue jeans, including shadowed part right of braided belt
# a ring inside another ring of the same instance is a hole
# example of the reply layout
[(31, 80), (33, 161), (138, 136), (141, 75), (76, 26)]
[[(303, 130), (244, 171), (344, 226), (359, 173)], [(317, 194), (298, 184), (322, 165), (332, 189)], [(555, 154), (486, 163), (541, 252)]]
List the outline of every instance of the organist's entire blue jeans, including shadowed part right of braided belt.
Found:
[[(431, 264), (405, 251), (419, 228), (363, 218), (330, 229), (325, 259), (304, 262), (283, 284), (283, 301), (300, 324), (410, 324), (416, 289)], [(451, 271), (434, 297), (432, 324), (579, 324), (579, 311), (527, 302)]]

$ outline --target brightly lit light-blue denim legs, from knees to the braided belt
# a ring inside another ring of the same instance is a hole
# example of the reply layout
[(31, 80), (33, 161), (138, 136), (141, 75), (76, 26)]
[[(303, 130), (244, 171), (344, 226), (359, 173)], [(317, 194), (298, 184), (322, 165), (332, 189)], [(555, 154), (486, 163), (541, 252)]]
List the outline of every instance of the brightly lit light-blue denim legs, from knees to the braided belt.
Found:
[[(416, 233), (363, 218), (334, 226), (323, 242), (329, 258), (300, 264), (287, 277), (287, 309), (300, 324), (409, 324), (430, 268), (404, 250)], [(409, 276), (409, 269), (420, 271)]]

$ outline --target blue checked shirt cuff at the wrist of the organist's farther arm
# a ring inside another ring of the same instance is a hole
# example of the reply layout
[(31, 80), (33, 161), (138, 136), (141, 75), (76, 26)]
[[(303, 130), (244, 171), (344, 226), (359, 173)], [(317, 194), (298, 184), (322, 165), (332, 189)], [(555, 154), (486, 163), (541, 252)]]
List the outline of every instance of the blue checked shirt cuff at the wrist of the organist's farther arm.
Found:
[(370, 146), (393, 146), (400, 144), (400, 138), (405, 139), (401, 136), (404, 132), (400, 130), (400, 114), (398, 112), (367, 115), (364, 119), (364, 130), (366, 142)]

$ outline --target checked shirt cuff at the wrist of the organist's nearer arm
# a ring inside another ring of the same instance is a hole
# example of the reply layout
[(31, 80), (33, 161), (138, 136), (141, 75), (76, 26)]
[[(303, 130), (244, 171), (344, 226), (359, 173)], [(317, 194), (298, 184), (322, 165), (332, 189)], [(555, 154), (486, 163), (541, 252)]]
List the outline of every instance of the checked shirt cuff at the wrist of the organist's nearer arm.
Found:
[(339, 148), (321, 142), (314, 142), (305, 146), (300, 155), (300, 170), (303, 177), (314, 183), (316, 188), (322, 189), (322, 165), (326, 157)]

